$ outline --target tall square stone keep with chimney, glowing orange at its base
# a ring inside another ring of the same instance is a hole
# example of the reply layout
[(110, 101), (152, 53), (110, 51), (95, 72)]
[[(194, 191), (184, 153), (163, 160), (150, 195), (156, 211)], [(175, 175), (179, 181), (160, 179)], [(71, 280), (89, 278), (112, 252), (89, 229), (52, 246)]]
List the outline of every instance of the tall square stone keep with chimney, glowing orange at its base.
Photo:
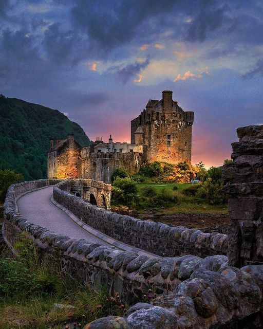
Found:
[(147, 162), (191, 162), (193, 122), (194, 112), (183, 111), (173, 92), (164, 90), (131, 121), (131, 143), (147, 146)]

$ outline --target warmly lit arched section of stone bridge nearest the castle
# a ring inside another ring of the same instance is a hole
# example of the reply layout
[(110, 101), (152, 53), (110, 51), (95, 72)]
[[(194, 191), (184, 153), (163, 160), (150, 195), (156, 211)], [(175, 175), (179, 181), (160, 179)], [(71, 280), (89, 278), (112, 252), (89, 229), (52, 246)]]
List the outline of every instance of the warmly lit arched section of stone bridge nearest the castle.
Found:
[(69, 193), (98, 207), (110, 209), (111, 185), (93, 179), (73, 179)]

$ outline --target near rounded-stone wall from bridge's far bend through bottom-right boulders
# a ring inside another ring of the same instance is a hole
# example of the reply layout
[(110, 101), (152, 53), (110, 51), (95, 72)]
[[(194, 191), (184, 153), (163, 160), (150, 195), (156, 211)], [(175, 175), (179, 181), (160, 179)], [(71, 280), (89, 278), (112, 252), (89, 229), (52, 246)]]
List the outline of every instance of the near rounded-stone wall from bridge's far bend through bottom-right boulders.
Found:
[(229, 267), (224, 255), (149, 257), (52, 233), (18, 214), (15, 203), (20, 194), (49, 184), (24, 182), (9, 188), (4, 206), (4, 236), (9, 247), (19, 239), (17, 233), (25, 231), (43, 252), (59, 257), (61, 269), (73, 279), (104, 284), (111, 293), (118, 291), (127, 304), (142, 301), (149, 289), (152, 297), (157, 296), (151, 304), (130, 307), (124, 318), (98, 319), (89, 329), (230, 329), (247, 316), (251, 328), (260, 328), (257, 315), (262, 307), (263, 265)]

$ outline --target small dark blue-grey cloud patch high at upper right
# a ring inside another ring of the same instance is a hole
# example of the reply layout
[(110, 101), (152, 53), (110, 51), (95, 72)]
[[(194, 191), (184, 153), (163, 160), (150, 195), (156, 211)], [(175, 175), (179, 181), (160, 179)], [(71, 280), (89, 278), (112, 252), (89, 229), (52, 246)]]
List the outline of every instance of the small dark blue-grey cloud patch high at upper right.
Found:
[(203, 42), (209, 32), (220, 28), (226, 16), (227, 6), (211, 10), (202, 10), (192, 22), (187, 35), (187, 41)]

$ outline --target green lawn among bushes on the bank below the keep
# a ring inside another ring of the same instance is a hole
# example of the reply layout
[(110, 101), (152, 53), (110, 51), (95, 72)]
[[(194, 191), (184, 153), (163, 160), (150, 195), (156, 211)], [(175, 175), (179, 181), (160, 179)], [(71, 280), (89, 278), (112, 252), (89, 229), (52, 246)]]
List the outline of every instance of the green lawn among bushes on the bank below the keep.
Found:
[(165, 206), (165, 207), (156, 207), (155, 205), (150, 205), (147, 203), (140, 204), (137, 206), (137, 210), (140, 213), (144, 213), (145, 210), (149, 211), (153, 208), (158, 210), (163, 214), (175, 214), (175, 213), (217, 213), (217, 214), (228, 214), (228, 207), (227, 205), (210, 205), (205, 203), (203, 200), (193, 197), (193, 196), (185, 196), (181, 192), (186, 189), (187, 187), (191, 186), (191, 183), (182, 183), (182, 184), (164, 184), (164, 183), (153, 183), (153, 184), (143, 184), (138, 183), (138, 195), (139, 197), (142, 195), (142, 189), (147, 187), (154, 187), (156, 191), (161, 191), (162, 189), (168, 189), (174, 191), (174, 187), (177, 187), (175, 193), (179, 196), (180, 202), (173, 206)]

